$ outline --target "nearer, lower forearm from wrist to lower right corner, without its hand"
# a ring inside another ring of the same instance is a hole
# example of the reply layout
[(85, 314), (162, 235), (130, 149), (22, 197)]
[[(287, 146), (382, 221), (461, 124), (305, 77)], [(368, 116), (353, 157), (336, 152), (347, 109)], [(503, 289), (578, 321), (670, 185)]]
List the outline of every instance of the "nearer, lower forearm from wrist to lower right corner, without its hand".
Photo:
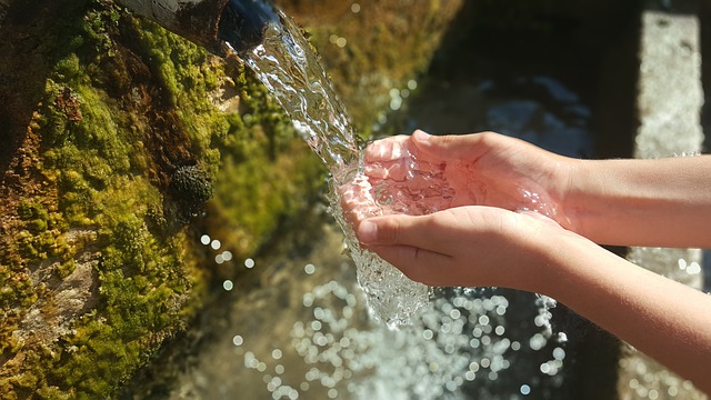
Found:
[(544, 293), (711, 393), (711, 297), (580, 238), (549, 263)]

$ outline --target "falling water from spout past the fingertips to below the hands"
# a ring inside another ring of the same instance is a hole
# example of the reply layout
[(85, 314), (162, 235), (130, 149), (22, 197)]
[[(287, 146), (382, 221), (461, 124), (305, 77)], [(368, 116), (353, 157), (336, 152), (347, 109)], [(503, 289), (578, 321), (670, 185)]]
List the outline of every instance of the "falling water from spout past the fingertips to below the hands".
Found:
[[(332, 214), (346, 232), (347, 246), (358, 268), (359, 283), (365, 291), (375, 318), (390, 326), (409, 322), (412, 313), (428, 302), (428, 288), (405, 278), (377, 254), (360, 249), (341, 209), (339, 187), (356, 182), (367, 187), (373, 198), (388, 196), (388, 183), (372, 188), (362, 173), (362, 149), (346, 108), (308, 41), (283, 13), (267, 23), (261, 42), (249, 49), (226, 41), (226, 52), (241, 59), (264, 83), (291, 118), (297, 131), (321, 158), (331, 173)], [(224, 27), (222, 27), (224, 31)], [(230, 37), (229, 30), (226, 37)], [(415, 166), (417, 167), (417, 166)], [(434, 182), (433, 182), (434, 183)], [(401, 199), (404, 204), (408, 199)], [(407, 212), (382, 201), (373, 203), (370, 214)], [(390, 206), (390, 207), (385, 207)]]

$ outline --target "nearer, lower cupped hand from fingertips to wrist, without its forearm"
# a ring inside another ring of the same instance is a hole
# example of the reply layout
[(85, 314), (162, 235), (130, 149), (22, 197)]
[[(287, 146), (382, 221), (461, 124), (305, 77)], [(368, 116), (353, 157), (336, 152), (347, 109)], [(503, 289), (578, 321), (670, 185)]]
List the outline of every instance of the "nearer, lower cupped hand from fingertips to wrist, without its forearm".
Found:
[(468, 206), (427, 216), (369, 218), (357, 228), (367, 249), (428, 286), (540, 291), (557, 238), (575, 236), (537, 212)]

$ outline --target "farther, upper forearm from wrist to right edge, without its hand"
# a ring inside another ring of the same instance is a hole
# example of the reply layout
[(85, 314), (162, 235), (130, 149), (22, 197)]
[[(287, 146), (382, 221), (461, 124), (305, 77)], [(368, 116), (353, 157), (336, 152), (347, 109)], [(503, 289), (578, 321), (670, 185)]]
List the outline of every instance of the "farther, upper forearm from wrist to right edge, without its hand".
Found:
[(711, 248), (711, 156), (574, 161), (571, 230), (603, 244)]

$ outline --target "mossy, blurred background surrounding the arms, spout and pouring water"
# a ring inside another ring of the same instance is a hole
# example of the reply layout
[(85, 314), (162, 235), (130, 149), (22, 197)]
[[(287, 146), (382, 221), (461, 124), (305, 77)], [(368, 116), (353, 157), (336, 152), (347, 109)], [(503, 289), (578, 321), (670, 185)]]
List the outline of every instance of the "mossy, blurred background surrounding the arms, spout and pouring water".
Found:
[[(708, 150), (705, 2), (277, 3), (363, 140)], [(110, 1), (0, 17), (4, 397), (705, 398), (534, 293), (440, 289), (411, 327), (374, 322), (323, 167), (243, 66)], [(700, 250), (612, 250), (711, 290)]]

